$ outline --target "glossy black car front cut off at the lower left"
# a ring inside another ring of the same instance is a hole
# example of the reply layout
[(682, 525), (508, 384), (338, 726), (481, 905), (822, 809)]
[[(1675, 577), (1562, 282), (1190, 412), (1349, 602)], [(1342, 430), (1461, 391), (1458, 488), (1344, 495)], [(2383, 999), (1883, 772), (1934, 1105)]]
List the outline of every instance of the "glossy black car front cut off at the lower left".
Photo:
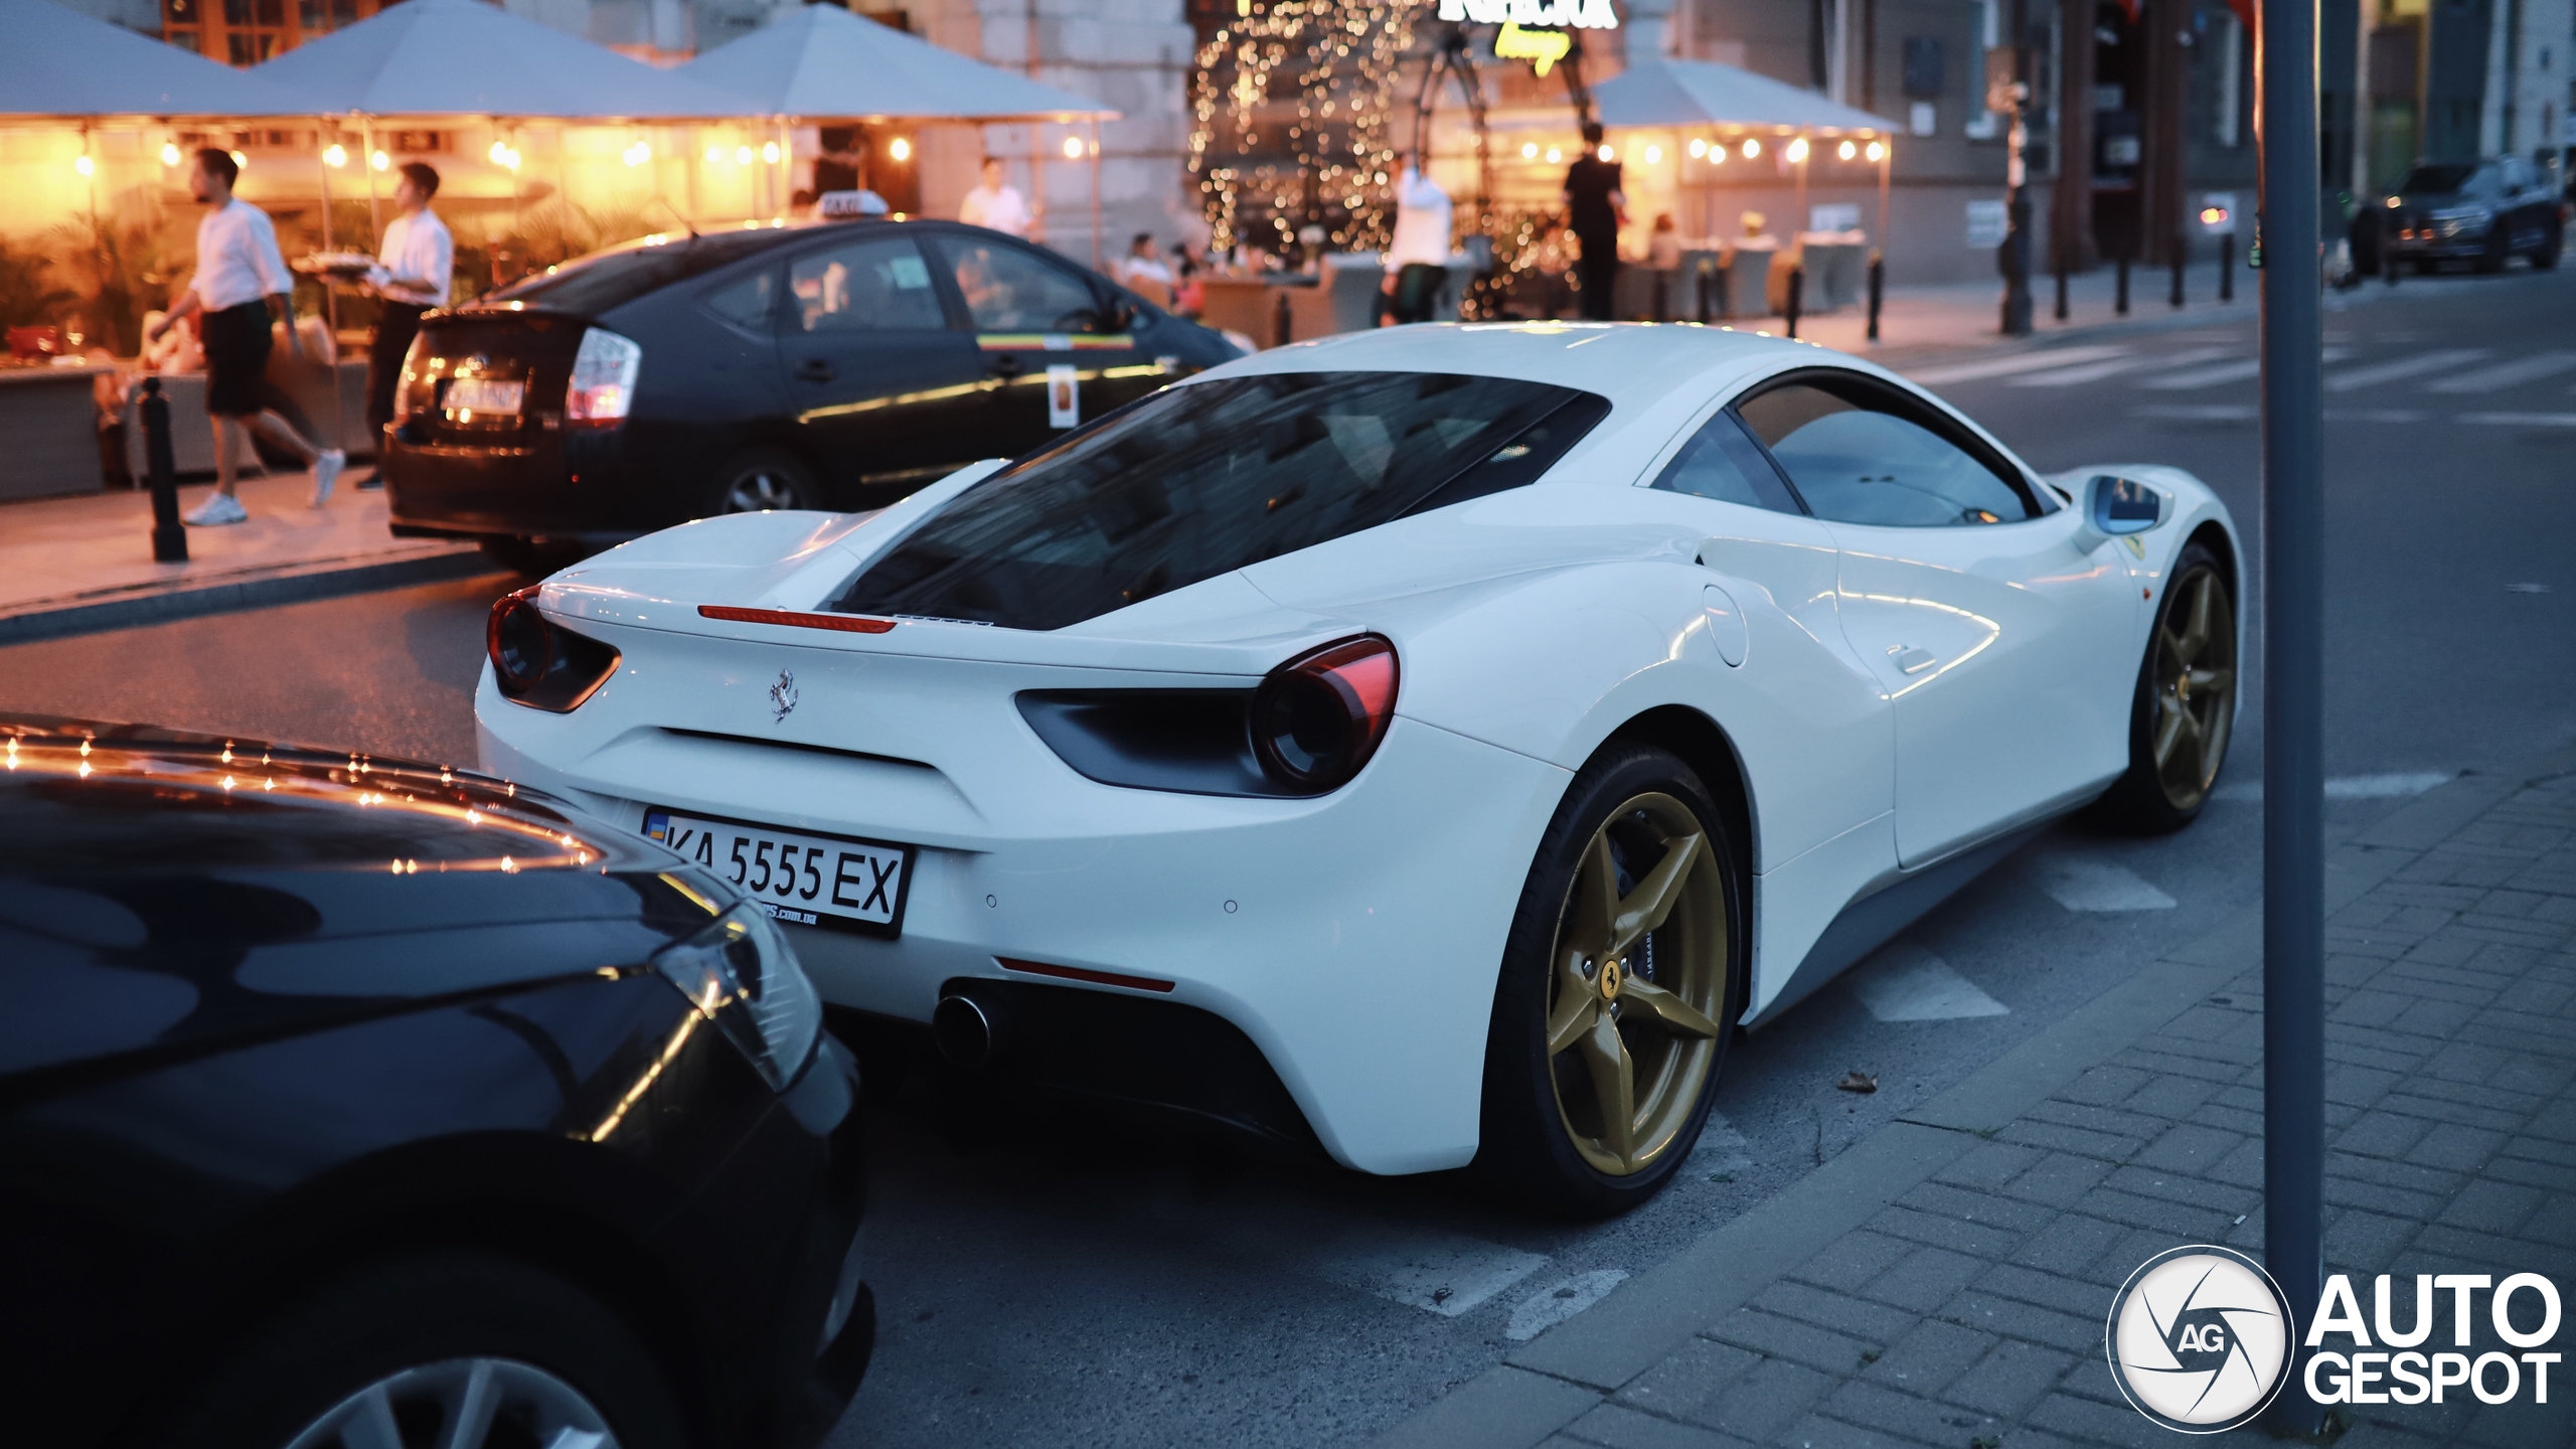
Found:
[(801, 1449), (858, 1070), (757, 902), (464, 771), (0, 717), (0, 1423)]

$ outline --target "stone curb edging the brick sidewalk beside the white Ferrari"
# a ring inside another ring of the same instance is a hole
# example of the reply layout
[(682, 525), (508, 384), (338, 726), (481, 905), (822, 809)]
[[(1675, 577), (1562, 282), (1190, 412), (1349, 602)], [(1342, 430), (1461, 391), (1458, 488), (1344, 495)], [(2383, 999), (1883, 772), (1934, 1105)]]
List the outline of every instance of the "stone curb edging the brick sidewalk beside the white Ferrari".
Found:
[[(2576, 771), (2576, 743), (2514, 771), (2465, 773), (2326, 856), (2326, 915), (2416, 861), (2530, 779)], [(1770, 1201), (1620, 1284), (1502, 1364), (1370, 1439), (1376, 1449), (1530, 1449), (1610, 1400), (2043, 1098), (2262, 967), (2262, 905), (2169, 951), (2056, 1026), (1904, 1111)]]

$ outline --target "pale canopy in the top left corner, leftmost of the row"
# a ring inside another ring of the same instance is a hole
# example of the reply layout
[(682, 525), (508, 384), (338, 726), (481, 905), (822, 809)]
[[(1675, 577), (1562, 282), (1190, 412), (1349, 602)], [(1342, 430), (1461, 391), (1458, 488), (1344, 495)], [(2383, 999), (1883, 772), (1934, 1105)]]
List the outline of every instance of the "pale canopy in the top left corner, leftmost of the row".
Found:
[(0, 116), (312, 116), (301, 95), (46, 0), (0, 0)]

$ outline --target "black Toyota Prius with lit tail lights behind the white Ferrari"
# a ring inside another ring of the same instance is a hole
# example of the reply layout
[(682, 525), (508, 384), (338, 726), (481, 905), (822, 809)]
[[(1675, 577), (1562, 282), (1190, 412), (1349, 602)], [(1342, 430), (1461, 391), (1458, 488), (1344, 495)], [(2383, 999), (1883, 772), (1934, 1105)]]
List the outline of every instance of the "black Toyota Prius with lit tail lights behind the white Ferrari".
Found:
[(757, 508), (878, 508), (1239, 356), (951, 222), (654, 235), (430, 315), (384, 443), (394, 534), (533, 567)]

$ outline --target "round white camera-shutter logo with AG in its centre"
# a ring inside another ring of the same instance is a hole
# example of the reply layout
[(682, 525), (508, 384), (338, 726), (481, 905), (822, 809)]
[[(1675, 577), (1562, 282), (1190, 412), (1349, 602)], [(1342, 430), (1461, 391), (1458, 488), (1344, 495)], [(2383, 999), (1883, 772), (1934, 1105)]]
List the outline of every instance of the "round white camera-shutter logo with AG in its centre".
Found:
[(2120, 1287), (2105, 1346), (2138, 1413), (2182, 1434), (2223, 1434), (2259, 1415), (2290, 1374), (2290, 1305), (2233, 1248), (2174, 1248)]

